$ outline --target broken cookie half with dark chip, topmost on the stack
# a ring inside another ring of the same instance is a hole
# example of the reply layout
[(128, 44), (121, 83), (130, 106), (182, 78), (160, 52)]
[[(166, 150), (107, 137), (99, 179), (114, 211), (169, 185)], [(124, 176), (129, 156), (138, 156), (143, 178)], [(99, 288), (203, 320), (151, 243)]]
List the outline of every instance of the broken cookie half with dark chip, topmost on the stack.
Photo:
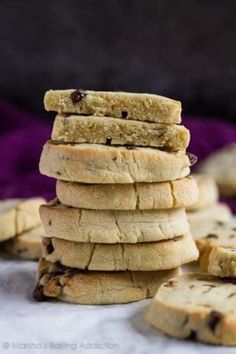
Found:
[(44, 96), (44, 106), (47, 111), (59, 113), (160, 123), (181, 122), (181, 102), (147, 93), (50, 90)]

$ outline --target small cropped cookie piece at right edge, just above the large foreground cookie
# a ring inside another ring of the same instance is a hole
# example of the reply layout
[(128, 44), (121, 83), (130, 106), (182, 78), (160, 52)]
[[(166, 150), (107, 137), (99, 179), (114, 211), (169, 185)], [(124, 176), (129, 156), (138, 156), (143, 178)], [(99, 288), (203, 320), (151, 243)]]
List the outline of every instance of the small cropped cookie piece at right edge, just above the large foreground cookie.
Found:
[(212, 247), (207, 272), (218, 277), (236, 277), (236, 233), (232, 247), (218, 245)]

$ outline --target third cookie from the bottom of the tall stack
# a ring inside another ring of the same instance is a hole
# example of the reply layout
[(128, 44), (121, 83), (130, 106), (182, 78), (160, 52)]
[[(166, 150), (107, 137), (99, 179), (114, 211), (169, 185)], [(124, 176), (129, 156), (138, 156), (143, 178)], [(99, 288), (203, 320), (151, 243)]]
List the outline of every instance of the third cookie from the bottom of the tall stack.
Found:
[(136, 243), (189, 232), (185, 209), (87, 210), (52, 201), (40, 207), (46, 236), (76, 242)]

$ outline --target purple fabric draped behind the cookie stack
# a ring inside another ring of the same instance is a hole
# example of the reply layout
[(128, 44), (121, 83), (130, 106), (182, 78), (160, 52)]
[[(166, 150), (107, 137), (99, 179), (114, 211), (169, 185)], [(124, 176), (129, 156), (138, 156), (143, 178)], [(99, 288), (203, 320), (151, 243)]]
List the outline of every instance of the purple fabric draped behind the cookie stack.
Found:
[[(0, 100), (0, 198), (55, 196), (55, 181), (41, 176), (38, 162), (42, 146), (50, 138), (52, 121), (42, 122)], [(185, 117), (191, 130), (189, 151), (198, 162), (225, 144), (236, 142), (236, 126), (204, 117)], [(195, 166), (196, 168), (196, 166)], [(227, 200), (236, 212), (236, 201)]]

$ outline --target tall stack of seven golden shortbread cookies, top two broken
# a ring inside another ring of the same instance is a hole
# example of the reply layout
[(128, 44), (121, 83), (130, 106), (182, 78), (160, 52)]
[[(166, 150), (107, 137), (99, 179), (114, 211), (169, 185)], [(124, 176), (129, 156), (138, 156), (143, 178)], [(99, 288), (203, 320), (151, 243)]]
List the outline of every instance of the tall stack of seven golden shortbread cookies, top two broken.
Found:
[(47, 237), (35, 299), (152, 297), (198, 257), (185, 213), (198, 189), (187, 177), (180, 103), (84, 90), (49, 91), (44, 103), (58, 114), (40, 171), (57, 179), (58, 199), (40, 209)]

